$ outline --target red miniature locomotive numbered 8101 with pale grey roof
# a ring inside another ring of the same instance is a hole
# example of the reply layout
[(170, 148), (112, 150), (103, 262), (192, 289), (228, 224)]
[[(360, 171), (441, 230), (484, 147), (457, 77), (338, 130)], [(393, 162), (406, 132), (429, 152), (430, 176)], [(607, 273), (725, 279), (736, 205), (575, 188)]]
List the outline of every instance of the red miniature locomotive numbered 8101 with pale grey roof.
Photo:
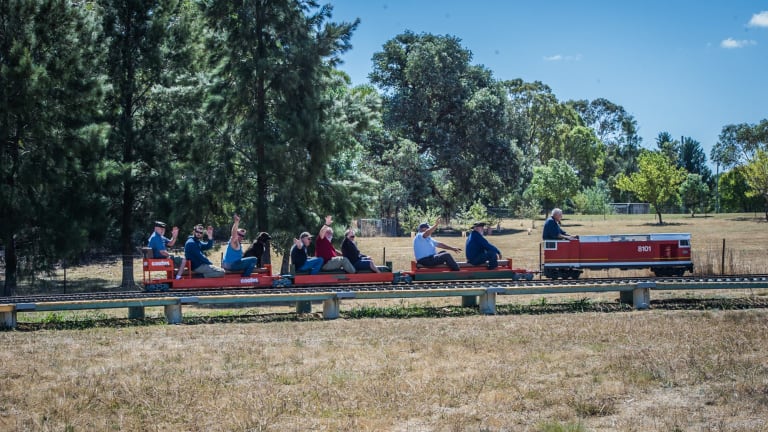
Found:
[(541, 272), (550, 279), (577, 279), (585, 269), (650, 269), (656, 276), (693, 272), (691, 235), (585, 235), (542, 242)]

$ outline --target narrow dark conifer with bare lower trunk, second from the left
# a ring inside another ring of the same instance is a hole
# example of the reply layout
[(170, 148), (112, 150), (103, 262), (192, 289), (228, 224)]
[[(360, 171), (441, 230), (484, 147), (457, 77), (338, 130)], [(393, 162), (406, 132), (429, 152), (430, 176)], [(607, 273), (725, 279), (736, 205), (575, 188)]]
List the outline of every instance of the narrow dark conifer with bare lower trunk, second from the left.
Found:
[[(104, 71), (110, 84), (106, 117), (109, 144), (103, 155), (106, 196), (119, 230), (123, 257), (122, 285), (131, 287), (134, 247), (144, 241), (137, 232), (153, 211), (153, 193), (159, 184), (170, 185), (178, 173), (168, 158), (185, 157), (179, 148), (170, 155), (168, 118), (175, 118), (167, 92), (178, 84), (179, 70), (187, 66), (183, 19), (191, 8), (179, 0), (99, 0), (106, 54)], [(166, 108), (169, 111), (166, 111)], [(186, 119), (188, 120), (188, 119)], [(182, 121), (181, 125), (186, 121)], [(181, 126), (176, 123), (176, 126)]]

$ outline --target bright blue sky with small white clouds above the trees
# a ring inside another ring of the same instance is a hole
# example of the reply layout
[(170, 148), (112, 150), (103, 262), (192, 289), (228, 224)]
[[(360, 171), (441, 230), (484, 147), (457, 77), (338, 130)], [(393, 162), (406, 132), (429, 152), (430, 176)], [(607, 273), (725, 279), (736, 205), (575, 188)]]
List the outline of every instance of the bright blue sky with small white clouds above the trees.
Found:
[(327, 1), (333, 21), (361, 20), (340, 66), (355, 85), (411, 30), (460, 38), (496, 79), (619, 104), (645, 147), (666, 131), (709, 157), (723, 126), (768, 118), (768, 1)]

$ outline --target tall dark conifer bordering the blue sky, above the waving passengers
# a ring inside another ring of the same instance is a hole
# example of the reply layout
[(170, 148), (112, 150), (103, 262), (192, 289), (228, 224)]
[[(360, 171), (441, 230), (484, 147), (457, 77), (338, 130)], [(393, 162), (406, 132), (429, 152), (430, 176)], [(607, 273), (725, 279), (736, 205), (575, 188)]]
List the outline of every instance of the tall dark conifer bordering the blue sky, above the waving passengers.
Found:
[[(206, 0), (215, 125), (226, 193), (255, 208), (258, 229), (317, 223), (339, 194), (328, 163), (344, 146), (334, 66), (357, 26), (310, 0)], [(310, 222), (313, 221), (313, 222)]]

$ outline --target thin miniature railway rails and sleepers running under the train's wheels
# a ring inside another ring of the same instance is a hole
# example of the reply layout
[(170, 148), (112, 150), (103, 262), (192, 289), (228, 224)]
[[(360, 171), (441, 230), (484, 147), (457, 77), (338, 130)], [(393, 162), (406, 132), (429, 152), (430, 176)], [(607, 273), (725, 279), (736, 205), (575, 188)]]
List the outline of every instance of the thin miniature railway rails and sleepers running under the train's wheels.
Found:
[[(179, 290), (166, 292), (120, 291), (95, 292), (77, 294), (46, 294), (29, 296), (0, 297), (0, 304), (97, 301), (121, 299), (152, 299), (188, 296), (222, 296), (222, 295), (253, 295), (253, 294), (312, 294), (312, 293), (347, 293), (347, 292), (397, 292), (397, 291), (429, 291), (448, 289), (525, 289), (525, 288), (564, 288), (574, 289), (587, 287), (612, 287), (619, 285), (637, 285), (641, 283), (663, 286), (662, 289), (719, 289), (719, 287), (748, 288), (750, 284), (768, 284), (768, 275), (727, 275), (727, 276), (681, 276), (681, 277), (632, 277), (632, 278), (594, 278), (566, 280), (532, 280), (532, 281), (446, 281), (446, 282), (417, 282), (414, 284), (349, 284), (334, 286), (292, 286), (278, 288), (238, 288), (215, 290)], [(732, 286), (731, 286), (732, 285)]]

